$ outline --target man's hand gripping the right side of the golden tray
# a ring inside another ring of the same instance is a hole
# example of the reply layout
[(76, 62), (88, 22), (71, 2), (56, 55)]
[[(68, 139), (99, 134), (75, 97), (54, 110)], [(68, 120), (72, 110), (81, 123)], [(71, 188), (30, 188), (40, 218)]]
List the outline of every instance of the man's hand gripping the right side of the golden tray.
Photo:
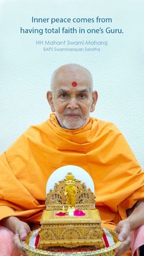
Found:
[(131, 236), (130, 236), (130, 223), (128, 219), (118, 222), (115, 231), (118, 232), (118, 240), (123, 241), (118, 249), (115, 250), (115, 255), (119, 256), (130, 249)]

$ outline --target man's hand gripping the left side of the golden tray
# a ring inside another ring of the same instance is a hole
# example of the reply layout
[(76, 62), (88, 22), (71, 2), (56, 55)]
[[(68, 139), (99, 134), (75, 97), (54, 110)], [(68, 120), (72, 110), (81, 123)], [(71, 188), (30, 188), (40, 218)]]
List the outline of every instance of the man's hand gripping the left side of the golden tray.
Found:
[(26, 240), (29, 232), (31, 232), (31, 229), (29, 225), (26, 224), (26, 222), (20, 221), (16, 225), (15, 236), (13, 237), (13, 243), (15, 244), (15, 249), (24, 256), (26, 255), (26, 252), (23, 246), (21, 245), (21, 241)]

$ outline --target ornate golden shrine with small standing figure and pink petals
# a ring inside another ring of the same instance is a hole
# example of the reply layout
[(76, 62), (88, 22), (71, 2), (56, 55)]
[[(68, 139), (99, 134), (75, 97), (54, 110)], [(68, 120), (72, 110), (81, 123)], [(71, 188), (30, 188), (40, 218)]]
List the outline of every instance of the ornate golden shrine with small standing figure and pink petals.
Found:
[[(82, 210), (84, 216), (74, 216), (74, 210)], [(65, 215), (58, 216), (58, 211)], [(73, 174), (68, 173), (64, 180), (55, 183), (54, 189), (46, 195), (46, 210), (41, 218), (39, 235), (38, 249), (43, 250), (53, 246), (104, 247), (95, 196)]]

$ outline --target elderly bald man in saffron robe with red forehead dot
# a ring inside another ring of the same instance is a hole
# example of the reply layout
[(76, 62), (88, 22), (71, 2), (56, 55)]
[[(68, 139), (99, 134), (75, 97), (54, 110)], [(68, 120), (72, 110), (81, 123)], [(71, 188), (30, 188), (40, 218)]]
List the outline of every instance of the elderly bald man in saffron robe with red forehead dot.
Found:
[(103, 225), (123, 241), (116, 251), (121, 255), (129, 249), (131, 230), (144, 224), (143, 171), (117, 127), (90, 117), (98, 93), (86, 68), (68, 64), (54, 71), (47, 98), (54, 112), (49, 120), (29, 128), (1, 155), (2, 229), (15, 234), (15, 247), (24, 255), (20, 240), (29, 225), (40, 222), (49, 176), (75, 165), (91, 175)]

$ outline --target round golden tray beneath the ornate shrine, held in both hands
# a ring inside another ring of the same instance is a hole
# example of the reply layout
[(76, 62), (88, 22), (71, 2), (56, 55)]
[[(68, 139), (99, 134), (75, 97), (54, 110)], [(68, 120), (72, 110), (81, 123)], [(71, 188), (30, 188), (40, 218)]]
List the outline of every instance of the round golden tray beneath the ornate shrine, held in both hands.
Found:
[(115, 244), (109, 247), (105, 247), (103, 249), (95, 249), (95, 246), (82, 246), (82, 247), (76, 247), (73, 249), (66, 249), (66, 248), (60, 248), (60, 249), (48, 249), (47, 251), (35, 249), (32, 246), (29, 246), (29, 237), (34, 233), (36, 230), (29, 233), (26, 241), (21, 241), (21, 244), (23, 245), (24, 249), (26, 250), (27, 256), (39, 256), (39, 255), (51, 255), (51, 256), (73, 256), (73, 255), (79, 255), (79, 256), (85, 256), (85, 255), (99, 255), (99, 256), (108, 256), (108, 255), (115, 255), (115, 249), (117, 249), (122, 242), (118, 241), (118, 234), (117, 232), (106, 229), (110, 232), (110, 234), (113, 236), (113, 240), (115, 241)]

